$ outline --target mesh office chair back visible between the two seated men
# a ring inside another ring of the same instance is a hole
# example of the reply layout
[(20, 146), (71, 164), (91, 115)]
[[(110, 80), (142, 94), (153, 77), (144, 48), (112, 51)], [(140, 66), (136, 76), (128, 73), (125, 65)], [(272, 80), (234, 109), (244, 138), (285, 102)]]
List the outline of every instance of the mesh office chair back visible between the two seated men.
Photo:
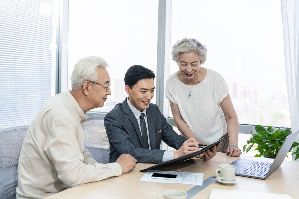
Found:
[(89, 150), (92, 158), (99, 163), (108, 163), (110, 153), (104, 117), (105, 115), (89, 116), (84, 125), (85, 148)]

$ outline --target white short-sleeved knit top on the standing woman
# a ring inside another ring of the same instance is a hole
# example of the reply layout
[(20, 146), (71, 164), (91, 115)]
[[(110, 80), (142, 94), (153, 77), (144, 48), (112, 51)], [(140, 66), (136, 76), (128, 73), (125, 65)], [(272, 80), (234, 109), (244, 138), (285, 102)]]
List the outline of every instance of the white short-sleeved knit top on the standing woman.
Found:
[(173, 73), (166, 81), (165, 92), (166, 98), (178, 105), (182, 118), (195, 137), (204, 144), (210, 144), (227, 132), (227, 124), (219, 104), (229, 91), (219, 73), (206, 70), (205, 79), (193, 87), (182, 83), (177, 72)]

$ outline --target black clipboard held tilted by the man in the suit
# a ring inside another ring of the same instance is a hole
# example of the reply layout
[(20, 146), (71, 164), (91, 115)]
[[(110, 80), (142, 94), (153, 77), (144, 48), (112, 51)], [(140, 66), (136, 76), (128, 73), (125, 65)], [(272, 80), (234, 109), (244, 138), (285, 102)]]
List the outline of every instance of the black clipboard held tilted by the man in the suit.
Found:
[(188, 159), (194, 158), (194, 157), (196, 157), (197, 155), (202, 154), (202, 153), (205, 152), (206, 150), (213, 148), (214, 145), (218, 144), (219, 142), (221, 142), (221, 141), (224, 140), (224, 139), (227, 139), (228, 137), (229, 137), (229, 136), (227, 136), (227, 137), (225, 137), (225, 138), (222, 138), (222, 139), (220, 139), (220, 140), (218, 140), (218, 141), (216, 141), (216, 142), (210, 144), (209, 146), (203, 148), (203, 149), (200, 150), (200, 151), (196, 151), (196, 152), (190, 153), (190, 154), (188, 154), (188, 155), (181, 156), (181, 157), (176, 158), (176, 159), (173, 159), (173, 160), (169, 160), (169, 161), (166, 161), (166, 162), (158, 163), (158, 164), (156, 164), (156, 165), (154, 165), (154, 166), (150, 166), (150, 167), (148, 167), (148, 168), (146, 168), (146, 169), (142, 169), (142, 170), (140, 170), (140, 172), (147, 171), (147, 170), (149, 170), (149, 169), (154, 169), (154, 168), (157, 168), (157, 167), (160, 167), (160, 166), (165, 166), (165, 165), (168, 165), (168, 164), (173, 164), (173, 163), (177, 163), (177, 162), (181, 162), (181, 161), (184, 161), (184, 160), (188, 160)]

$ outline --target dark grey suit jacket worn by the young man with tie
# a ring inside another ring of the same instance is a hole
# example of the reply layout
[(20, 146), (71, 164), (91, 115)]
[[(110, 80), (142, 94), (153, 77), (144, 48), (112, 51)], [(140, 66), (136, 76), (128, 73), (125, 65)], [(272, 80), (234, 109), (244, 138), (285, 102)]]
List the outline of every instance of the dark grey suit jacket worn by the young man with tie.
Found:
[(110, 144), (109, 163), (115, 162), (121, 154), (130, 154), (138, 163), (160, 163), (165, 151), (160, 150), (161, 140), (175, 149), (187, 140), (173, 130), (157, 105), (149, 104), (146, 112), (152, 149), (143, 149), (138, 121), (126, 99), (106, 114), (104, 125)]

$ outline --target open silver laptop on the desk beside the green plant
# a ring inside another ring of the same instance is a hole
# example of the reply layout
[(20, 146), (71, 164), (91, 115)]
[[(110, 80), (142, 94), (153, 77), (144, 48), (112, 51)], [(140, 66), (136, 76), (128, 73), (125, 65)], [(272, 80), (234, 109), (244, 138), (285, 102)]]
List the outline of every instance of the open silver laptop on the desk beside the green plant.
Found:
[[(273, 163), (246, 159), (237, 159), (236, 161), (232, 162), (232, 165), (237, 166), (236, 175), (266, 180), (266, 178), (268, 178), (274, 171), (276, 171), (276, 169), (278, 169), (278, 167), (280, 167), (281, 163), (286, 157), (286, 154), (292, 147), (298, 132), (299, 130), (286, 137)], [(260, 160), (263, 159), (260, 158)]]

